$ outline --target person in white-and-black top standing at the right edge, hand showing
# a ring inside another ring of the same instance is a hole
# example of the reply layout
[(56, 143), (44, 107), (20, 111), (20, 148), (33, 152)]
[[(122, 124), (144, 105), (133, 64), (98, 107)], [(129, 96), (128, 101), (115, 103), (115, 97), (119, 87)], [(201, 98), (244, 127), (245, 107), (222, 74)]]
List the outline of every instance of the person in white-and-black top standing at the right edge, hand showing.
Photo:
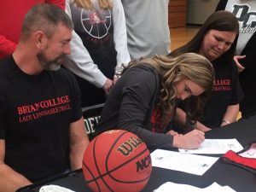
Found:
[(241, 116), (256, 113), (256, 1), (221, 0), (217, 10), (227, 10), (236, 15), (240, 33), (234, 60), (239, 70), (239, 79), (244, 93), (240, 103)]

